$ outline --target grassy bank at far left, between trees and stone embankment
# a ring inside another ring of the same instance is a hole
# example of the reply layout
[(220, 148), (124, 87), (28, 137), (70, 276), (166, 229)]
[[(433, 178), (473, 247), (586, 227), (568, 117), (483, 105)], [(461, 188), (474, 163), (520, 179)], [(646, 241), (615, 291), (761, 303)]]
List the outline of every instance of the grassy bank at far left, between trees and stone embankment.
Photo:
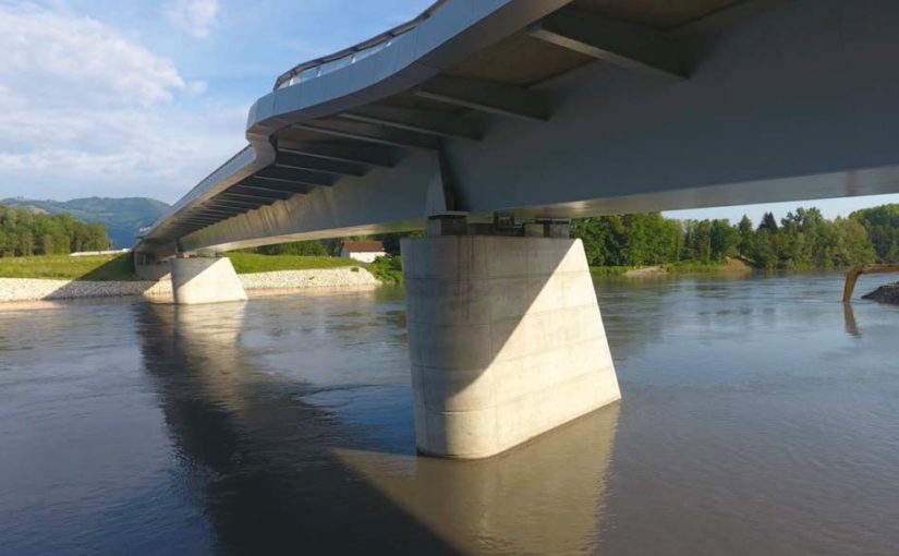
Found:
[(70, 257), (38, 255), (0, 258), (2, 278), (54, 278), (92, 281), (136, 280), (131, 254)]

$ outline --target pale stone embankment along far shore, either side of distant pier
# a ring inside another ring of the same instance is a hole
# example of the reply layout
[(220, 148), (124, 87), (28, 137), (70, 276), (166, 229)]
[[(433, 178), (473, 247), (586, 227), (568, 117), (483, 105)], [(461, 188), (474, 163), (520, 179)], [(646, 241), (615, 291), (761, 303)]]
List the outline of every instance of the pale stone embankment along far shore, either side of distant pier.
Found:
[[(248, 294), (271, 290), (291, 291), (313, 288), (373, 287), (381, 282), (361, 267), (279, 270), (240, 275)], [(171, 300), (171, 280), (159, 281), (86, 281), (33, 278), (0, 278), (0, 303), (49, 301), (82, 298), (119, 298), (142, 295), (154, 301)]]

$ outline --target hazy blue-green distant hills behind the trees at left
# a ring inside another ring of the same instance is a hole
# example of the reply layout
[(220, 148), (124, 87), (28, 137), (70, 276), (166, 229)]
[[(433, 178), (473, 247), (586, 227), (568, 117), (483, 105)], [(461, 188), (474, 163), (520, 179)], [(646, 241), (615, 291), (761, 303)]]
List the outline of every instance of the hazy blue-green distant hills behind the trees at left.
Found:
[(0, 204), (47, 211), (51, 215), (69, 213), (86, 222), (100, 220), (106, 225), (107, 234), (116, 247), (120, 249), (134, 246), (134, 233), (137, 229), (150, 226), (169, 209), (166, 203), (146, 197), (87, 197), (65, 202), (17, 197), (2, 200)]

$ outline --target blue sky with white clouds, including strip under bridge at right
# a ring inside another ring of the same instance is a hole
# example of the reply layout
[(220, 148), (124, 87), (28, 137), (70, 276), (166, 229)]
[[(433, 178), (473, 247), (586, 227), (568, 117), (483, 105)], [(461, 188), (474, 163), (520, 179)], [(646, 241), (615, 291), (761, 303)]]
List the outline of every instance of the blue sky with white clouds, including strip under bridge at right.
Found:
[[(433, 0), (0, 0), (0, 198), (173, 203), (246, 144), (250, 106), (293, 65)], [(899, 195), (667, 213), (828, 217)]]

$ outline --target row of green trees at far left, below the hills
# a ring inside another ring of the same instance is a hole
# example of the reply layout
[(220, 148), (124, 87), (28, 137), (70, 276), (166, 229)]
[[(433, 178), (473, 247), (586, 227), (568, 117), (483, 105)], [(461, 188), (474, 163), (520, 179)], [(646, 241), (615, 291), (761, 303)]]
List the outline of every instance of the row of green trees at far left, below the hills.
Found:
[(109, 249), (102, 222), (82, 222), (68, 214), (34, 214), (0, 205), (0, 256), (66, 254)]

